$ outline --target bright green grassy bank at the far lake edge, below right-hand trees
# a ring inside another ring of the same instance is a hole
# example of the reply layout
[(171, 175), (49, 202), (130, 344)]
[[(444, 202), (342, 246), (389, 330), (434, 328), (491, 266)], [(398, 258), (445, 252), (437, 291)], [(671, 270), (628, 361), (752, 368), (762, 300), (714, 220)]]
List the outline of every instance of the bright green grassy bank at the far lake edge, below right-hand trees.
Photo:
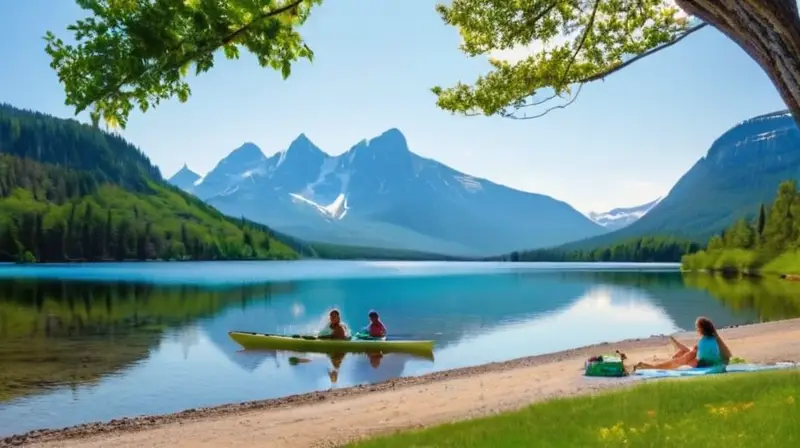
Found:
[(778, 256), (747, 249), (701, 250), (681, 259), (685, 271), (738, 272), (761, 275), (800, 275), (800, 252)]

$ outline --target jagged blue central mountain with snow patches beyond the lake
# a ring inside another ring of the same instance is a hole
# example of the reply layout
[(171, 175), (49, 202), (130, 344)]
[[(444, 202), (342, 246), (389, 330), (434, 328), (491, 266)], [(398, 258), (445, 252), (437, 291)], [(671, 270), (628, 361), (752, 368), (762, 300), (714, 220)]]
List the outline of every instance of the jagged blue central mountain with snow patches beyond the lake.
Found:
[(185, 190), (317, 242), (483, 255), (606, 231), (564, 202), (420, 157), (397, 129), (338, 156), (304, 134), (270, 157), (247, 143)]

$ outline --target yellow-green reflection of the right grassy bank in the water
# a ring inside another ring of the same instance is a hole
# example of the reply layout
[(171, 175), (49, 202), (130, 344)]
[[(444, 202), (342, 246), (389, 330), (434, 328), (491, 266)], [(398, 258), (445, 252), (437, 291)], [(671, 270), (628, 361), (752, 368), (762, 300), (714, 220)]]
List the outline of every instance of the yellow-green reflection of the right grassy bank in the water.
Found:
[(754, 310), (762, 322), (800, 317), (800, 284), (777, 279), (684, 275), (686, 286), (708, 291), (733, 310)]

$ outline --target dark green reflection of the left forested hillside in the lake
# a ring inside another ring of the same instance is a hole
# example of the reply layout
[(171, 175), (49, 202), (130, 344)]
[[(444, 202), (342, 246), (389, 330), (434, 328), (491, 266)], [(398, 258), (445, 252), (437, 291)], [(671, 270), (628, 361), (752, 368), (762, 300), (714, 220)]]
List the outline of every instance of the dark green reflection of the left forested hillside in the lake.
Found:
[(145, 358), (167, 328), (288, 288), (0, 280), (0, 401), (97, 380)]

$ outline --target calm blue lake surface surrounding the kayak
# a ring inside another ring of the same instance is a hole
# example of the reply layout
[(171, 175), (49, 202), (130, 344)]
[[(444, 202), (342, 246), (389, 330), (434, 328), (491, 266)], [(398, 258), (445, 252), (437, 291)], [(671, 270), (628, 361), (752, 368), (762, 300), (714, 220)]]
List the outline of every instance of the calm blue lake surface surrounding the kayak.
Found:
[[(789, 282), (682, 276), (674, 265), (223, 262), (0, 266), (0, 436), (274, 398), (603, 341), (800, 316)], [(348, 354), (290, 365), (230, 330), (358, 329), (433, 339), (435, 361)], [(338, 365), (338, 369), (336, 365)]]

